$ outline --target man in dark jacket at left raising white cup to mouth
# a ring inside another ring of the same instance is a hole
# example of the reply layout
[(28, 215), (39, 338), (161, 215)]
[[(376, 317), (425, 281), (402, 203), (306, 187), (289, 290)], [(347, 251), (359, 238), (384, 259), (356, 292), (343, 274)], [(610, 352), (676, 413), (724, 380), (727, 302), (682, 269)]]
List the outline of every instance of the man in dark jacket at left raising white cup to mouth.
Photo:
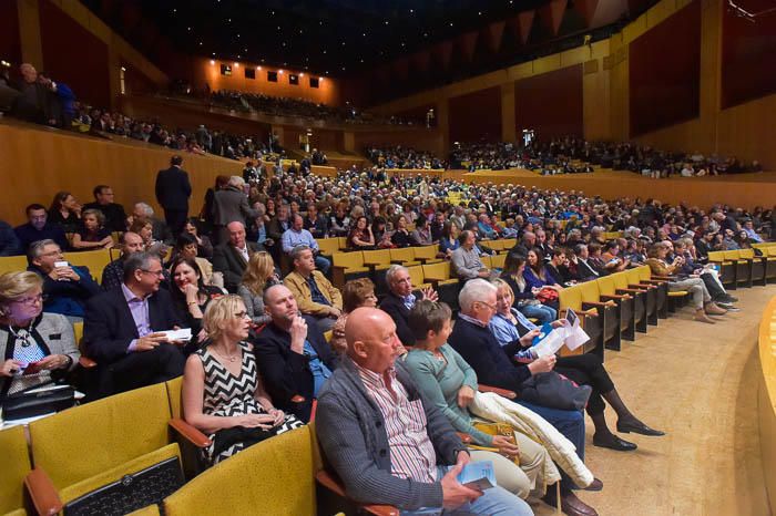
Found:
[(27, 270), (43, 278), (43, 311), (61, 313), (71, 322), (82, 321), (86, 301), (100, 292), (89, 269), (64, 261), (62, 249), (50, 239), (33, 242), (28, 259)]

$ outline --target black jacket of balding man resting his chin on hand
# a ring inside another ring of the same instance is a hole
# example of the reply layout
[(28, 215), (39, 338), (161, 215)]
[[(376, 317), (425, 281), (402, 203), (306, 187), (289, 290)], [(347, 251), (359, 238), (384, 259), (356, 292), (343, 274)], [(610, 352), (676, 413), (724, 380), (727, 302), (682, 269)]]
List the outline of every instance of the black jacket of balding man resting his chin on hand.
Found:
[[(338, 363), (337, 355), (331, 352), (315, 319), (303, 317), (307, 321), (307, 340), (318, 353), (318, 358), (334, 371)], [(264, 386), (275, 406), (293, 413), (304, 422), (309, 421), (313, 407), (313, 372), (309, 358), (292, 351), (290, 333), (270, 322), (255, 338), (254, 353)], [(290, 401), (297, 394), (305, 399), (304, 403)]]

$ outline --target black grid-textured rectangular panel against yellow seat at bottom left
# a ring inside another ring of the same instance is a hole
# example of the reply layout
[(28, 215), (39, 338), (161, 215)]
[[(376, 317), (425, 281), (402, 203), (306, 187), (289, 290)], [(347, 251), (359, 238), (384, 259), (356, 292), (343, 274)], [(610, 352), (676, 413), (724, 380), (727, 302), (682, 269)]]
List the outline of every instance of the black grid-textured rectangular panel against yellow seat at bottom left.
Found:
[(112, 516), (161, 503), (183, 486), (178, 457), (171, 457), (88, 493), (64, 508), (64, 516)]

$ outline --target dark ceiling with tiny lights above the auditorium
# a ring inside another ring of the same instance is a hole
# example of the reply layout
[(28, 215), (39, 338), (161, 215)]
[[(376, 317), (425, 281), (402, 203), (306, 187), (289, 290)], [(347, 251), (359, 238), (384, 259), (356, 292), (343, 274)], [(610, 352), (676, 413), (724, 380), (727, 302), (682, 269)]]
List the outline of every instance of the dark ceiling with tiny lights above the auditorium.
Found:
[[(82, 0), (154, 60), (186, 54), (349, 75), (550, 0)], [(571, 3), (571, 2), (570, 2)], [(149, 28), (156, 25), (156, 30)], [(162, 40), (167, 40), (162, 43)], [(156, 55), (157, 56), (157, 55)], [(157, 60), (159, 61), (159, 60)]]

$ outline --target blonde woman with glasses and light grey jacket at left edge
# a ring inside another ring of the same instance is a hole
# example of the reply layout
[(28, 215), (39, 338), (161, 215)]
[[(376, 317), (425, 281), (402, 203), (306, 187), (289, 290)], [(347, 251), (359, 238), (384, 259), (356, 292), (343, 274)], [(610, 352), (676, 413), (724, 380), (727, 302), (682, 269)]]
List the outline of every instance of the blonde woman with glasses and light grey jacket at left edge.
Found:
[(42, 311), (43, 280), (39, 275), (0, 276), (0, 400), (64, 376), (81, 358), (68, 319)]

